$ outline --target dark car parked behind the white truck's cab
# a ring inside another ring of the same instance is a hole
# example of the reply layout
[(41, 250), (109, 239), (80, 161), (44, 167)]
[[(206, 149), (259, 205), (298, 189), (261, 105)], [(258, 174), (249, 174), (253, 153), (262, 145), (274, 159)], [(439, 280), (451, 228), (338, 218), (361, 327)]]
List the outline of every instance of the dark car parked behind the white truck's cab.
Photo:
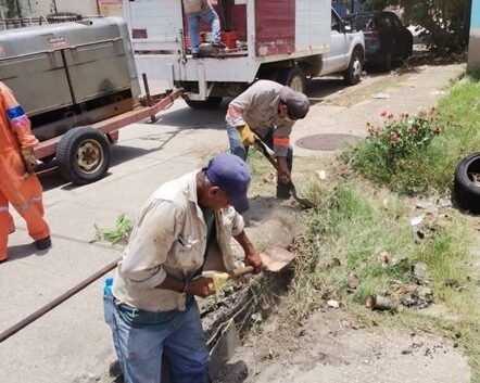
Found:
[(414, 37), (393, 12), (358, 13), (351, 23), (365, 35), (365, 61), (390, 71), (392, 62), (412, 55)]

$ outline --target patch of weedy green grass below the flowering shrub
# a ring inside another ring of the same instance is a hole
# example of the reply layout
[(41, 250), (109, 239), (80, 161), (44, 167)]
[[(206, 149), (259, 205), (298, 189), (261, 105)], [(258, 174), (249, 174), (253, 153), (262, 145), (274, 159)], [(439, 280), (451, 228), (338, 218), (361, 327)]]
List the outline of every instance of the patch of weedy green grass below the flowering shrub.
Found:
[[(301, 321), (326, 299), (334, 298), (356, 312), (359, 320), (370, 318), (377, 323), (386, 321), (449, 336), (462, 333), (458, 343), (479, 374), (480, 346), (475, 339), (480, 332), (480, 310), (470, 267), (475, 233), (469, 218), (452, 212), (447, 218), (426, 221), (426, 238), (417, 242), (410, 228), (413, 213), (386, 191), (355, 182), (318, 194), (323, 195), (323, 204), (305, 217), (308, 231), (296, 242), (302, 257), (287, 298), (291, 318)], [(412, 269), (418, 261), (428, 266), (435, 304), (458, 319), (440, 320), (409, 308), (402, 308), (393, 317), (365, 309), (368, 295), (390, 295), (394, 284), (415, 284)], [(346, 285), (352, 273), (361, 280), (354, 290)], [(447, 280), (458, 281), (458, 285), (449, 285)]]

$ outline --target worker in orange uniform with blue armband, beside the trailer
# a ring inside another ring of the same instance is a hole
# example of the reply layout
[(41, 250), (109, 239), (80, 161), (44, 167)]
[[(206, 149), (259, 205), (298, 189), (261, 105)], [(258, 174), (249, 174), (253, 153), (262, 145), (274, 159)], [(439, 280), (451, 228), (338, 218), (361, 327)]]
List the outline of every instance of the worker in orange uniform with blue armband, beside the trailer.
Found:
[(42, 189), (35, 175), (36, 145), (30, 120), (12, 91), (0, 81), (0, 261), (8, 258), (8, 238), (15, 230), (9, 203), (25, 219), (38, 250), (52, 244), (43, 219)]

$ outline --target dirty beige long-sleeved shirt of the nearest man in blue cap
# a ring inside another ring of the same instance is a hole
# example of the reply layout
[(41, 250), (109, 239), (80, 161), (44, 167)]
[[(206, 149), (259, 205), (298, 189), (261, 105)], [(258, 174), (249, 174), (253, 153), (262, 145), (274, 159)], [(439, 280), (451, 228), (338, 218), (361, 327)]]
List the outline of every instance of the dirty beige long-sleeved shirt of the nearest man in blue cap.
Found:
[[(198, 171), (164, 183), (144, 205), (114, 277), (113, 295), (118, 301), (148, 311), (185, 309), (186, 294), (155, 286), (166, 275), (189, 279), (203, 264), (207, 229), (197, 200)], [(216, 242), (226, 270), (236, 267), (230, 240), (243, 226), (233, 207), (215, 213)]]

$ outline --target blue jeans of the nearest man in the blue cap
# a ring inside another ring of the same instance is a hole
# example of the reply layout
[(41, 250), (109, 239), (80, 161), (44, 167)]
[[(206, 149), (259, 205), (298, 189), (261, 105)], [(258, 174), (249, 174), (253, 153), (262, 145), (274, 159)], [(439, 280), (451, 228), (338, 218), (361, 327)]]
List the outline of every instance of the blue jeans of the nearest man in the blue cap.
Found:
[(209, 352), (197, 303), (167, 328), (155, 330), (125, 323), (113, 296), (103, 302), (125, 383), (161, 383), (162, 358), (168, 361), (172, 383), (209, 382)]

